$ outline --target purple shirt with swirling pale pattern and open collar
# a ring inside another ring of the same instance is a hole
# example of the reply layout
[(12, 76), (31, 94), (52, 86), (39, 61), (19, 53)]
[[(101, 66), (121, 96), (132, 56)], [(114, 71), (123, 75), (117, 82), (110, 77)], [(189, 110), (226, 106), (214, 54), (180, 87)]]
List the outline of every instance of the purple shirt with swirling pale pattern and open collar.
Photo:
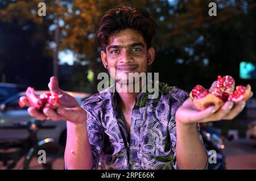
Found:
[[(81, 105), (88, 112), (93, 169), (99, 162), (101, 169), (177, 169), (175, 113), (188, 92), (166, 83), (159, 83), (156, 99), (149, 99), (148, 92), (139, 92), (128, 134), (113, 87), (90, 96)], [(200, 133), (199, 137), (203, 144)]]

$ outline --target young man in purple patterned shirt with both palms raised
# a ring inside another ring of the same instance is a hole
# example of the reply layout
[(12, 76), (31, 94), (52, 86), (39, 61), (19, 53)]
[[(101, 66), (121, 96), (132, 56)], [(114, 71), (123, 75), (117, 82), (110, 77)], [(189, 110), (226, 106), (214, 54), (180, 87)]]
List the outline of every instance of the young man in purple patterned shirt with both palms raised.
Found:
[[(101, 18), (97, 39), (104, 48), (102, 63), (115, 84), (80, 107), (52, 77), (49, 90), (61, 95), (62, 106), (43, 113), (28, 108), (39, 120), (67, 120), (67, 169), (97, 169), (99, 162), (102, 169), (205, 169), (207, 153), (197, 123), (231, 120), (243, 110), (245, 102), (226, 102), (217, 112), (214, 106), (197, 110), (187, 92), (165, 83), (150, 98), (142, 91), (142, 79), (136, 84), (140, 91), (133, 91), (135, 83), (127, 74), (147, 73), (154, 61), (155, 27), (146, 10), (109, 10)], [(26, 97), (20, 100), (30, 106)]]

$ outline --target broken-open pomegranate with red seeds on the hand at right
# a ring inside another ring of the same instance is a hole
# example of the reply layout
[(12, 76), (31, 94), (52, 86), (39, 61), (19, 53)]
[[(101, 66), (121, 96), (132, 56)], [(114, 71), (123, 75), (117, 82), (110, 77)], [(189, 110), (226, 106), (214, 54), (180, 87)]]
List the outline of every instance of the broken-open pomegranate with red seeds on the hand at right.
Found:
[(217, 78), (217, 85), (213, 90), (207, 90), (203, 86), (196, 85), (191, 93), (190, 98), (193, 104), (200, 110), (205, 110), (211, 105), (215, 105), (217, 110), (223, 106), (226, 101), (237, 103), (241, 100), (247, 100), (250, 97), (251, 86), (237, 86), (234, 90), (235, 81), (230, 75)]

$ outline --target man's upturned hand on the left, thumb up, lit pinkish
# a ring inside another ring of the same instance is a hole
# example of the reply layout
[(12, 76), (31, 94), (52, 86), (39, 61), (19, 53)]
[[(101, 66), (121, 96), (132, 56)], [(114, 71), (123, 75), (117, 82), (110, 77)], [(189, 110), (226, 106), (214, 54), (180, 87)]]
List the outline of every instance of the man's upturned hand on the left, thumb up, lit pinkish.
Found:
[(67, 92), (60, 90), (56, 77), (51, 77), (48, 87), (51, 92), (55, 92), (55, 94), (59, 95), (59, 103), (61, 106), (58, 107), (56, 111), (51, 108), (44, 108), (42, 113), (36, 110), (36, 108), (31, 107), (26, 96), (20, 97), (20, 102), (28, 106), (28, 113), (32, 117), (38, 120), (68, 120), (75, 124), (84, 123), (84, 121), (86, 121), (86, 111), (80, 107), (75, 98)]

